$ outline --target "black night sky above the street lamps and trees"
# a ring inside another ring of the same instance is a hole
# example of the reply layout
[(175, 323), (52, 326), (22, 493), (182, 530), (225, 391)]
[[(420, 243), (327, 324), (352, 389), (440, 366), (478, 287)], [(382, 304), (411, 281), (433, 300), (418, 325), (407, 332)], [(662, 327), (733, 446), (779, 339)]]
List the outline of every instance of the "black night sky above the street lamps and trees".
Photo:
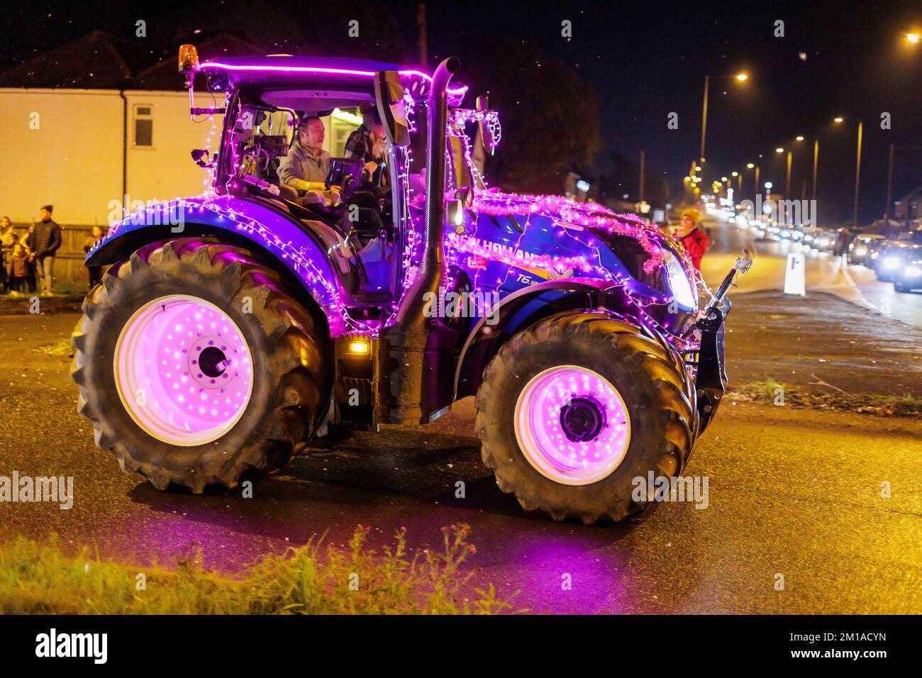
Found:
[[(208, 7), (168, 3), (76, 4), (6, 9), (0, 16), (0, 69), (75, 39), (90, 30), (132, 37), (146, 18), (155, 49), (174, 53), (176, 30), (214, 24)], [(227, 5), (236, 5), (228, 3)], [(311, 21), (322, 3), (246, 3), (279, 24)], [(415, 42), (415, 3), (393, 8), (406, 41)], [(53, 7), (53, 8), (48, 8)], [(140, 7), (140, 8), (139, 8)], [(864, 120), (861, 218), (883, 212), (888, 145), (922, 146), (922, 42), (905, 39), (922, 30), (922, 2), (778, 4), (736, 3), (427, 3), (430, 60), (466, 53), (473, 34), (489, 36), (495, 58), (503, 45), (525, 42), (576, 69), (597, 90), (604, 149), (595, 172), (605, 173), (613, 152), (634, 159), (645, 149), (649, 172), (664, 173), (674, 191), (698, 154), (705, 75), (744, 70), (744, 84), (712, 81), (705, 183), (747, 161), (762, 158), (762, 182), (783, 186), (784, 160), (774, 148), (807, 137), (794, 159), (794, 196), (809, 179), (812, 139), (821, 138), (820, 199), (842, 218), (851, 215), (857, 119)], [(561, 21), (573, 38), (561, 37)], [(774, 37), (774, 22), (785, 37)], [(243, 22), (240, 22), (243, 23)], [(230, 26), (228, 28), (234, 28)], [(245, 30), (245, 26), (237, 27)], [(283, 32), (279, 30), (279, 32)], [(344, 52), (342, 55), (349, 55)], [(804, 58), (806, 57), (806, 58)], [(550, 67), (536, 64), (536, 68)], [(462, 66), (463, 79), (464, 71)], [(522, 83), (527, 87), (527, 82)], [(667, 128), (679, 113), (679, 129)], [(881, 130), (881, 113), (892, 129)], [(522, 112), (526, 114), (526, 112)], [(834, 115), (846, 118), (832, 125)], [(894, 199), (922, 184), (922, 149), (898, 149)], [(801, 172), (802, 171), (802, 172)], [(751, 182), (751, 174), (746, 175)], [(744, 186), (744, 192), (745, 186)], [(810, 183), (808, 181), (808, 196)], [(838, 206), (841, 206), (839, 208)]]

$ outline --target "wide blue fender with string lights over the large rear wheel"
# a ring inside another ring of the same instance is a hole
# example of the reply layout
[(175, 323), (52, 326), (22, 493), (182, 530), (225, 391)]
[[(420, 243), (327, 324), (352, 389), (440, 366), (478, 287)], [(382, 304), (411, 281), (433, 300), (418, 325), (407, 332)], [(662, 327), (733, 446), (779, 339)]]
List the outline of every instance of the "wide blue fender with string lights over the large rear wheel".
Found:
[(207, 235), (255, 250), (267, 267), (289, 282), (296, 295), (307, 292), (325, 313), (332, 336), (342, 331), (342, 272), (333, 263), (337, 254), (329, 254), (319, 235), (300, 227), (282, 208), (253, 200), (193, 197), (140, 208), (112, 225), (89, 251), (86, 264), (105, 266), (131, 256), (146, 244)]

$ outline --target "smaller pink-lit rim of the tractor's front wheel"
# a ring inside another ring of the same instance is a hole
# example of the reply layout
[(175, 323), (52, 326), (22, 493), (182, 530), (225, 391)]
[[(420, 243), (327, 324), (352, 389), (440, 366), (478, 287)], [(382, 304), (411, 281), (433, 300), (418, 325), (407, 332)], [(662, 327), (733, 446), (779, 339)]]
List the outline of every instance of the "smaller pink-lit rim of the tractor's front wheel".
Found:
[(564, 485), (589, 485), (621, 465), (631, 418), (597, 372), (558, 365), (532, 377), (515, 403), (515, 439), (532, 468)]

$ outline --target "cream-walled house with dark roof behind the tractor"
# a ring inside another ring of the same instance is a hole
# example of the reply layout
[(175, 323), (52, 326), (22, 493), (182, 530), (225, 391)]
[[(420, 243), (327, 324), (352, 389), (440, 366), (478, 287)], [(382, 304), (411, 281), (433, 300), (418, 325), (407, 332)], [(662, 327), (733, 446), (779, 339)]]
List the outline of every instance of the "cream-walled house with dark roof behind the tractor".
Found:
[[(263, 52), (227, 33), (198, 50), (203, 59)], [(124, 202), (202, 192), (207, 175), (190, 151), (209, 137), (217, 149), (221, 124), (190, 121), (175, 55), (94, 31), (0, 73), (0, 215), (26, 228), (53, 204), (64, 228), (55, 277), (83, 280), (90, 229), (118, 219)]]

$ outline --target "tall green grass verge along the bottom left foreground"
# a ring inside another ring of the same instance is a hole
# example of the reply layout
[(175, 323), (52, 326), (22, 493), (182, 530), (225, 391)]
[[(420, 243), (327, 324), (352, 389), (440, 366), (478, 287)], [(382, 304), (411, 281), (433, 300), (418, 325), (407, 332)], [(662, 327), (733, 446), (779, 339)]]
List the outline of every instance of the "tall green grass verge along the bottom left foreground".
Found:
[(503, 613), (508, 601), (490, 585), (463, 598), (476, 570), (466, 525), (443, 528), (443, 545), (410, 557), (406, 530), (376, 553), (356, 528), (349, 549), (323, 539), (290, 548), (237, 577), (205, 570), (200, 550), (175, 570), (100, 560), (84, 549), (68, 557), (55, 536), (47, 545), (25, 538), (0, 545), (0, 613), (7, 614), (468, 614)]

